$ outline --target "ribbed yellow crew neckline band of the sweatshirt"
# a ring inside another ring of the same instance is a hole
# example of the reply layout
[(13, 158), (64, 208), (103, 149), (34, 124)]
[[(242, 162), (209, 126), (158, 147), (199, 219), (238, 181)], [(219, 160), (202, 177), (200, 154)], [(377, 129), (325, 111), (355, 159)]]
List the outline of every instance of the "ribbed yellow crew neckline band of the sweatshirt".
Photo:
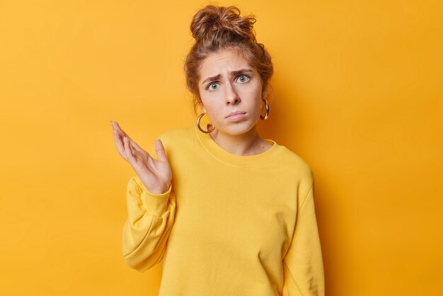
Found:
[(214, 142), (211, 135), (201, 132), (198, 130), (197, 126), (194, 127), (194, 130), (198, 140), (200, 140), (203, 147), (205, 147), (209, 154), (212, 154), (212, 156), (214, 156), (216, 159), (233, 166), (255, 166), (258, 164), (263, 164), (263, 162), (270, 161), (282, 151), (282, 146), (277, 144), (277, 142), (274, 140), (263, 139), (272, 144), (270, 149), (267, 149), (265, 152), (261, 152), (259, 154), (236, 155), (232, 154), (231, 152), (227, 152), (225, 149), (220, 147), (219, 144)]

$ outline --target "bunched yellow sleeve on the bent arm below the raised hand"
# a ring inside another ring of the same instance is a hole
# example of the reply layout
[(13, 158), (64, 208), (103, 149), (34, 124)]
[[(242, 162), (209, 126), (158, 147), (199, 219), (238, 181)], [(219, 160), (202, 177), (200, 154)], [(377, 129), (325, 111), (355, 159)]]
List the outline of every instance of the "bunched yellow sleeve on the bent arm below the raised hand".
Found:
[(171, 186), (166, 193), (150, 193), (138, 176), (127, 184), (127, 221), (122, 232), (125, 262), (146, 271), (161, 262), (174, 222), (176, 196)]

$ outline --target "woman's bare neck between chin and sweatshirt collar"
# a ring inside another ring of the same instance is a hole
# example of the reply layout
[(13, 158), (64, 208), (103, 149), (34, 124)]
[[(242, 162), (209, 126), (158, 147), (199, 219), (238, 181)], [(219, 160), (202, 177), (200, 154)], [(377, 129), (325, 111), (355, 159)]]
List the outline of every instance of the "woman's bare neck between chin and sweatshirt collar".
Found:
[(260, 154), (272, 147), (270, 142), (263, 140), (260, 135), (258, 135), (256, 126), (241, 135), (229, 135), (219, 132), (217, 129), (209, 135), (219, 147), (222, 147), (231, 154), (239, 156)]

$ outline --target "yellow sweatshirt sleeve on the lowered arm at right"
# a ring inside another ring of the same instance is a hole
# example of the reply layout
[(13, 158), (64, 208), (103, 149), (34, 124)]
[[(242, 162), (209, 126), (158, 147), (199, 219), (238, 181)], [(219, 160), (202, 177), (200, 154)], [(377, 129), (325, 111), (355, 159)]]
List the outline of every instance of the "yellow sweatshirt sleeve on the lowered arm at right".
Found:
[(282, 296), (325, 295), (313, 186), (299, 209), (292, 243), (284, 256), (283, 272)]

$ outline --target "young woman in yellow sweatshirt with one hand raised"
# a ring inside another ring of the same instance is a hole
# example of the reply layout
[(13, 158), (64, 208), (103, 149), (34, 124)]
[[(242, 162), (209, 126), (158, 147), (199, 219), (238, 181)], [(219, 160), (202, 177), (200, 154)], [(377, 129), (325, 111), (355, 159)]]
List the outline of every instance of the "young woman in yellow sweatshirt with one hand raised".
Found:
[[(138, 271), (163, 261), (159, 295), (324, 295), (313, 173), (257, 132), (269, 115), (272, 62), (253, 23), (235, 6), (195, 14), (185, 74), (203, 113), (197, 125), (164, 132), (156, 158), (111, 122), (137, 173), (123, 255)], [(212, 125), (202, 127), (205, 115)]]

